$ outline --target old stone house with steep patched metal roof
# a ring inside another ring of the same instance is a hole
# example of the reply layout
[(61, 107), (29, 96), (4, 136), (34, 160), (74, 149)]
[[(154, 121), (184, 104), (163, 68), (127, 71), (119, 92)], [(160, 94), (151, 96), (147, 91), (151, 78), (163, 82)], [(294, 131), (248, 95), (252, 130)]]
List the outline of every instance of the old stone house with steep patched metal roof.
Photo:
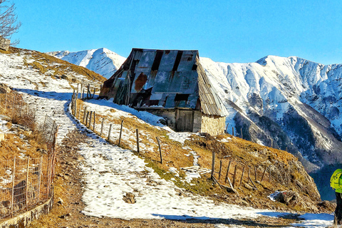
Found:
[(224, 133), (227, 110), (199, 63), (198, 51), (133, 48), (100, 98), (167, 119), (177, 131)]

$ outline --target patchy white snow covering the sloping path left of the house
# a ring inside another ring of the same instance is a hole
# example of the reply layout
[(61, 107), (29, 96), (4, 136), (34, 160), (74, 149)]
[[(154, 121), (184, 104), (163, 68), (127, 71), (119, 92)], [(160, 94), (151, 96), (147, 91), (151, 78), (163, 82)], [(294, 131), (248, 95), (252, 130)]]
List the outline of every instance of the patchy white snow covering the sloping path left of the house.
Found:
[[(41, 76), (33, 69), (19, 68), (21, 63), (21, 56), (0, 54), (0, 81), (19, 90), (24, 99), (37, 108), (38, 119), (43, 121), (48, 115), (56, 120), (60, 126), (58, 142), (61, 143), (69, 130), (85, 130), (68, 109), (71, 86), (65, 81)], [(39, 80), (45, 80), (45, 86), (32, 83)], [(150, 123), (154, 120), (152, 118)], [(83, 213), (88, 215), (122, 219), (255, 219), (262, 215), (284, 215), (234, 204), (214, 204), (211, 199), (197, 195), (180, 195), (180, 189), (173, 182), (162, 180), (133, 152), (109, 145), (93, 133), (88, 133), (88, 141), (80, 153), (85, 157), (80, 163), (86, 182)], [(135, 204), (123, 201), (128, 192), (135, 195)], [(331, 214), (304, 214), (302, 217), (306, 220), (293, 224), (294, 227), (326, 227), (333, 220)], [(217, 224), (217, 227), (226, 226)]]

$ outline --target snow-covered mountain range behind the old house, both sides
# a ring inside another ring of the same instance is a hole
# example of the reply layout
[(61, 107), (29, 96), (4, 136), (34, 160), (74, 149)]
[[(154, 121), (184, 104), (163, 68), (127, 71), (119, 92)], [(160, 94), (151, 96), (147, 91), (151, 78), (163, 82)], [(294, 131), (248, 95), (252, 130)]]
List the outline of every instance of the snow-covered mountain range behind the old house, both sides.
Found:
[[(125, 61), (105, 48), (49, 54), (105, 78)], [(342, 65), (279, 56), (255, 63), (200, 61), (230, 113), (228, 133), (234, 128), (234, 135), (293, 153), (319, 179), (322, 198), (330, 199), (326, 180), (342, 164)]]

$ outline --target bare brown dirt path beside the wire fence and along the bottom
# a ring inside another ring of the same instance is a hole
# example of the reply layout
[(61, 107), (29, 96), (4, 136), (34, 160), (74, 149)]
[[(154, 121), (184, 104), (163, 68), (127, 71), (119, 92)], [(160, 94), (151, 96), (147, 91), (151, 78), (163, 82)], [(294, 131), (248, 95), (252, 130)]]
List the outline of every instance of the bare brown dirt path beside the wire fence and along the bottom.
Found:
[[(242, 227), (284, 227), (293, 219), (259, 217), (257, 221), (237, 219), (212, 219), (172, 221), (167, 219), (112, 219), (108, 217), (90, 217), (82, 213), (83, 180), (79, 162), (83, 157), (78, 154), (78, 145), (86, 143), (87, 136), (78, 130), (68, 133), (63, 144), (58, 148), (55, 202), (50, 214), (33, 221), (30, 227), (218, 227), (214, 224), (234, 224)], [(224, 225), (222, 225), (224, 227)]]

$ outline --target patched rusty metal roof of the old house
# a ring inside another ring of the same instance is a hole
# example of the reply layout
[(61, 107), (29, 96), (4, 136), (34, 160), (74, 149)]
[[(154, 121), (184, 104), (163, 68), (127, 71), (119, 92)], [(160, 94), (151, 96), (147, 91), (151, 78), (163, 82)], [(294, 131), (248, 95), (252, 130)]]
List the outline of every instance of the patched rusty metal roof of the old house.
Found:
[(120, 69), (105, 81), (100, 95), (133, 108), (188, 108), (227, 115), (197, 50), (133, 48)]

